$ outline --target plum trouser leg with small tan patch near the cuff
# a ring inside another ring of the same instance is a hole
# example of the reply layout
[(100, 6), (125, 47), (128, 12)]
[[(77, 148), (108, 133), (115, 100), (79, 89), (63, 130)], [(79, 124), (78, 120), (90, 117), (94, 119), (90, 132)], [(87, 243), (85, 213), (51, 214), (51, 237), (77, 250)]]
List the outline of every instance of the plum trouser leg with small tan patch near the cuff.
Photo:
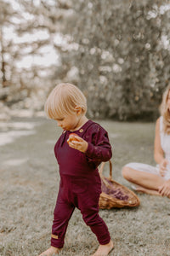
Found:
[(69, 219), (75, 207), (64, 201), (57, 201), (54, 209), (54, 222), (52, 226), (51, 246), (62, 248)]

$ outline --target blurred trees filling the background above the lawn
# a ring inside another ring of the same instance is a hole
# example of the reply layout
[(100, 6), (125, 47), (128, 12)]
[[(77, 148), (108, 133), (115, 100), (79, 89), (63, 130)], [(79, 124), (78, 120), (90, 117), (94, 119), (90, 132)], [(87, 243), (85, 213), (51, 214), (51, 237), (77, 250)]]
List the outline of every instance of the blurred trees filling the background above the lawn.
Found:
[(41, 110), (66, 81), (87, 96), (90, 118), (156, 119), (170, 79), (169, 1), (2, 0), (0, 8), (3, 104)]

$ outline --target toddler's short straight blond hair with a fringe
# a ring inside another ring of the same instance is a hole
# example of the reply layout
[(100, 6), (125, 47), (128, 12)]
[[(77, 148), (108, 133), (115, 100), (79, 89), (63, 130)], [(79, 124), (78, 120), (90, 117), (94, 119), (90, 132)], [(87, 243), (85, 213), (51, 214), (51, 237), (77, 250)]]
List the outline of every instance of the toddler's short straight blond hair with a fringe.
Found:
[(87, 112), (87, 100), (77, 86), (68, 83), (58, 84), (45, 102), (45, 112), (50, 119), (60, 119), (67, 114), (75, 113), (75, 108)]

